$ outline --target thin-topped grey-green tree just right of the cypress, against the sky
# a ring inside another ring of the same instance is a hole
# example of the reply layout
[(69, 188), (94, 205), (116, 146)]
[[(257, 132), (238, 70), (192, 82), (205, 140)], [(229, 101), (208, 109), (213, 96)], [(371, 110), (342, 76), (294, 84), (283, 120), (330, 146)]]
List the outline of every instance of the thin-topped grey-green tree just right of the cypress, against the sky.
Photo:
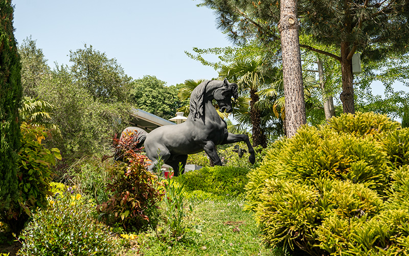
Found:
[(42, 49), (37, 48), (36, 40), (27, 37), (18, 46), (18, 53), (21, 57), (21, 84), (23, 95), (36, 98), (38, 94), (36, 88), (43, 79), (50, 76), (50, 67), (47, 59), (42, 53)]

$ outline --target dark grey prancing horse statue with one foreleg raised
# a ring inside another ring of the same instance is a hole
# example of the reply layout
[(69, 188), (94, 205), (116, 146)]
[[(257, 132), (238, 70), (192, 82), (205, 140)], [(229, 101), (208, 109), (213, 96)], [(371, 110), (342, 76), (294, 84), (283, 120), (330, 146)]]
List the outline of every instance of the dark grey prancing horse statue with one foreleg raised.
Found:
[(232, 97), (237, 99), (237, 84), (227, 79), (207, 80), (201, 82), (190, 96), (190, 113), (188, 119), (180, 124), (157, 127), (150, 133), (138, 127), (127, 127), (121, 135), (130, 132), (135, 134), (136, 146), (145, 146), (146, 156), (152, 161), (148, 170), (153, 171), (158, 158), (173, 167), (174, 176), (179, 175), (179, 163), (185, 169), (188, 155), (205, 151), (216, 165), (221, 160), (216, 152), (216, 145), (244, 141), (250, 154), (248, 160), (254, 164), (254, 149), (244, 134), (232, 134), (227, 130), (226, 122), (220, 118), (212, 104), (215, 99), (220, 112), (231, 113)]

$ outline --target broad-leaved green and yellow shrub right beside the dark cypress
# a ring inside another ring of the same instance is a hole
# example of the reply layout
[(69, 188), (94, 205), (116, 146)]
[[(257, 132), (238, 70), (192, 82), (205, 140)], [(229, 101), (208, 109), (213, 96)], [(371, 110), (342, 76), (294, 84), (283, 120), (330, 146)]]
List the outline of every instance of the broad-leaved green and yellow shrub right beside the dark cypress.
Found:
[(57, 148), (48, 150), (41, 144), (41, 140), (47, 136), (47, 130), (22, 122), (21, 134), (17, 162), (18, 194), (5, 218), (5, 222), (16, 233), (24, 227), (32, 212), (37, 208), (47, 207), (47, 197), (51, 195), (52, 167), (56, 164), (56, 159), (61, 160)]

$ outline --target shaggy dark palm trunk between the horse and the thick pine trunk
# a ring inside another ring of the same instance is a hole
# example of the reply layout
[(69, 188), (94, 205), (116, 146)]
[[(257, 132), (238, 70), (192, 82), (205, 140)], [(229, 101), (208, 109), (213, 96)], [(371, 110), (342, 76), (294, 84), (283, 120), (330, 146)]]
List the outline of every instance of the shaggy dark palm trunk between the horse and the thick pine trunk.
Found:
[(252, 122), (252, 139), (253, 146), (261, 145), (263, 148), (267, 147), (267, 141), (263, 130), (261, 129), (261, 113), (258, 109), (255, 108), (254, 104), (259, 100), (257, 91), (250, 91), (250, 121)]

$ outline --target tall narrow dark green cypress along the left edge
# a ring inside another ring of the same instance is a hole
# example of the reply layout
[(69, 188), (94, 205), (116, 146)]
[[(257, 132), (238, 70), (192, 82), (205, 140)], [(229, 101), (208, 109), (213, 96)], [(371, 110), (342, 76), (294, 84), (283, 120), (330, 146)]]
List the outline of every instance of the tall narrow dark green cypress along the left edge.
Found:
[[(0, 1), (0, 218), (17, 196), (17, 153), (20, 147), (18, 108), (21, 64), (13, 28), (11, 0)], [(8, 216), (10, 218), (11, 216)], [(1, 220), (0, 219), (0, 220)]]

